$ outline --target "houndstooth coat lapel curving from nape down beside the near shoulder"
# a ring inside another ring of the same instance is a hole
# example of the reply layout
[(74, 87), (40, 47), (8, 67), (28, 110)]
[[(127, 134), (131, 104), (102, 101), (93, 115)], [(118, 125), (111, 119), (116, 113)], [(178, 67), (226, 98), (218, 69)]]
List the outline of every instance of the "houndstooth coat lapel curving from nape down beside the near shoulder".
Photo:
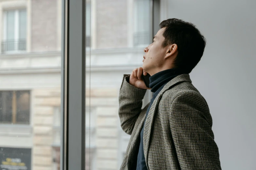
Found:
[(148, 161), (148, 149), (149, 149), (148, 147), (149, 147), (149, 142), (150, 142), (150, 134), (151, 134), (151, 131), (152, 131), (154, 115), (155, 115), (155, 112), (157, 110), (157, 106), (159, 104), (159, 101), (162, 97), (162, 94), (165, 91), (170, 89), (175, 84), (183, 82), (183, 81), (187, 81), (187, 82), (192, 83), (189, 74), (182, 74), (182, 75), (177, 76), (176, 78), (173, 78), (171, 81), (169, 81), (163, 87), (161, 92), (159, 92), (159, 94), (155, 98), (152, 106), (150, 107), (150, 110), (148, 112), (147, 119), (146, 119), (146, 122), (145, 122), (145, 126), (144, 126), (144, 132), (143, 132), (143, 148), (144, 148), (144, 156), (145, 156), (145, 162), (146, 162), (147, 169), (149, 169), (147, 161)]

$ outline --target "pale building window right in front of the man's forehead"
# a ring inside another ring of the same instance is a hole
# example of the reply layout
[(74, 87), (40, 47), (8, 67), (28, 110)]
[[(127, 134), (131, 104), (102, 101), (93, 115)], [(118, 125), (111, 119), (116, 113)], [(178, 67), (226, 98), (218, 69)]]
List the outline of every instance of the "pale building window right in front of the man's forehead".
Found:
[(150, 44), (150, 3), (148, 0), (134, 0), (133, 45), (148, 46)]

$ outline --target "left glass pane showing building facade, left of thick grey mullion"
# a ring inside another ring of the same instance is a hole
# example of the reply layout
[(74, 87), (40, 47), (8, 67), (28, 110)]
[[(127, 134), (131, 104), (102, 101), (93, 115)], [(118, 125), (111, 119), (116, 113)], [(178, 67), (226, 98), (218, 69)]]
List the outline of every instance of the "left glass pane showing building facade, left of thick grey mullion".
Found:
[(60, 170), (62, 0), (16, 4), (1, 24), (0, 169)]

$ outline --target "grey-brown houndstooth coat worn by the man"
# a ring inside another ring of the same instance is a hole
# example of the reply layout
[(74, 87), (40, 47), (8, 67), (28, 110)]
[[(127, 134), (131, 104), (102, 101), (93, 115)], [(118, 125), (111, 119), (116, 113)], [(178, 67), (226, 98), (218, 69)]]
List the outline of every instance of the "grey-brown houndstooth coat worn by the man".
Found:
[[(125, 74), (119, 93), (122, 129), (131, 135), (121, 170), (136, 170), (139, 136), (149, 103), (146, 90), (129, 84)], [(148, 170), (220, 170), (212, 117), (188, 74), (169, 81), (155, 98), (144, 127), (143, 147)]]

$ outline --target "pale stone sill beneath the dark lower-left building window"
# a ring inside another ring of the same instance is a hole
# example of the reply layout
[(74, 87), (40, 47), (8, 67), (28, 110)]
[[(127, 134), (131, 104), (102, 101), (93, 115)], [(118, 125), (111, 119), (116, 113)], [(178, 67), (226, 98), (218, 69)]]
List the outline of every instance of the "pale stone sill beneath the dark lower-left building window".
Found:
[(32, 136), (32, 126), (0, 124), (0, 136)]

